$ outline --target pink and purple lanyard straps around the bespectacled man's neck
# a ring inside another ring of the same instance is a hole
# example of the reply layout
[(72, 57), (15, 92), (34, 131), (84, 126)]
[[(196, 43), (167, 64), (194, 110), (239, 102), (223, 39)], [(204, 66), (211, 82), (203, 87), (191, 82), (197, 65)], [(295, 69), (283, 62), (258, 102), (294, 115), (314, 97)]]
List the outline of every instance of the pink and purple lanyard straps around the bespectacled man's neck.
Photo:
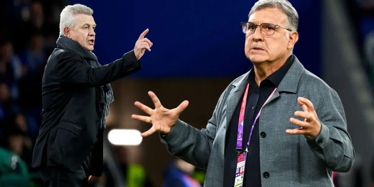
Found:
[[(245, 112), (245, 105), (247, 104), (248, 88), (249, 88), (249, 84), (245, 88), (243, 101), (242, 101), (242, 106), (240, 108), (240, 114), (239, 114), (239, 125), (237, 127), (236, 152), (237, 152), (238, 156), (242, 152), (242, 147), (243, 147), (244, 112)], [(264, 102), (262, 107), (264, 107), (264, 105), (267, 103), (267, 101), (269, 101), (269, 99), (273, 96), (276, 89), (277, 88), (275, 88), (274, 91), (272, 92), (272, 94), (270, 94), (269, 98), (266, 99), (266, 101)], [(257, 121), (258, 117), (260, 117), (262, 107), (261, 107), (260, 111), (258, 111), (258, 114), (257, 114), (257, 116), (256, 116), (256, 118), (255, 118), (255, 120), (252, 124), (251, 132), (249, 133), (248, 143), (247, 143), (247, 146), (245, 148), (245, 152), (248, 152), (249, 143), (251, 142), (251, 137), (252, 137), (252, 131), (253, 131), (255, 125), (256, 125), (256, 121)]]

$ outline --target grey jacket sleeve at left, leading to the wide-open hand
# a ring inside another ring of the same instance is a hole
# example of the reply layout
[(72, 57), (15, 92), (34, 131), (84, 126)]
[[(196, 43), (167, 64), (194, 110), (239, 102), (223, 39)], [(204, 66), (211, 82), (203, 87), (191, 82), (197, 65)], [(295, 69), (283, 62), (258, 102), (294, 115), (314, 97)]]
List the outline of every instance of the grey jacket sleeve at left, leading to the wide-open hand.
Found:
[(206, 169), (208, 167), (211, 147), (217, 133), (217, 119), (224, 93), (220, 96), (211, 119), (205, 129), (199, 130), (191, 125), (178, 120), (171, 131), (160, 134), (161, 142), (166, 144), (166, 149), (173, 156), (179, 157), (192, 165)]

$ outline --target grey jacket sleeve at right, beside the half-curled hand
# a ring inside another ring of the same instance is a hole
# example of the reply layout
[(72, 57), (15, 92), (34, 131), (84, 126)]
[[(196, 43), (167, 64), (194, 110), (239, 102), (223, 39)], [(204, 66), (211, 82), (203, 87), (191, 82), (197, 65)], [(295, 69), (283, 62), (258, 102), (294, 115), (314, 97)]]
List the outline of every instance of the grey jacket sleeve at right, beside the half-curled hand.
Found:
[(322, 95), (323, 102), (316, 111), (321, 122), (321, 132), (308, 139), (307, 143), (332, 171), (348, 172), (355, 160), (355, 150), (347, 132), (343, 105), (333, 89)]

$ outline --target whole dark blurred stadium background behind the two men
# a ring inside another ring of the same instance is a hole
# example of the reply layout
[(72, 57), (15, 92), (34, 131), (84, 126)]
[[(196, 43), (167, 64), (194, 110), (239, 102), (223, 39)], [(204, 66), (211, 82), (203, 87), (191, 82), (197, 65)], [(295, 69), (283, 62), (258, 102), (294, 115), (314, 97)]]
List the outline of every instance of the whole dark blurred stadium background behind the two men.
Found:
[[(336, 186), (374, 186), (374, 0), (290, 2), (299, 13), (294, 54), (340, 95), (355, 147), (355, 165), (337, 173)], [(166, 108), (187, 99), (181, 119), (204, 128), (226, 86), (252, 67), (240, 22), (255, 0), (1, 0), (0, 187), (43, 185), (30, 168), (41, 120), (41, 78), (56, 46), (59, 14), (74, 3), (94, 10), (93, 52), (102, 65), (132, 50), (146, 28), (154, 43), (141, 59), (141, 71), (112, 84), (105, 171), (91, 179), (92, 187), (161, 187), (174, 174), (203, 184), (204, 171), (170, 156), (158, 134), (140, 137), (150, 126), (131, 119), (142, 114), (134, 102), (152, 105), (147, 91)]]

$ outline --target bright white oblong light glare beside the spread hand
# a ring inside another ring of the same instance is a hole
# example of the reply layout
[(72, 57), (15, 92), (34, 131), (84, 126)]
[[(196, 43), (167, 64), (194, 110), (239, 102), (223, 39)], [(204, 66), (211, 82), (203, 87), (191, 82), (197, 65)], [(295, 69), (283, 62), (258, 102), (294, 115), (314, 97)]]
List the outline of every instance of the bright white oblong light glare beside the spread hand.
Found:
[(108, 133), (108, 140), (113, 145), (140, 145), (143, 137), (136, 129), (113, 129)]

